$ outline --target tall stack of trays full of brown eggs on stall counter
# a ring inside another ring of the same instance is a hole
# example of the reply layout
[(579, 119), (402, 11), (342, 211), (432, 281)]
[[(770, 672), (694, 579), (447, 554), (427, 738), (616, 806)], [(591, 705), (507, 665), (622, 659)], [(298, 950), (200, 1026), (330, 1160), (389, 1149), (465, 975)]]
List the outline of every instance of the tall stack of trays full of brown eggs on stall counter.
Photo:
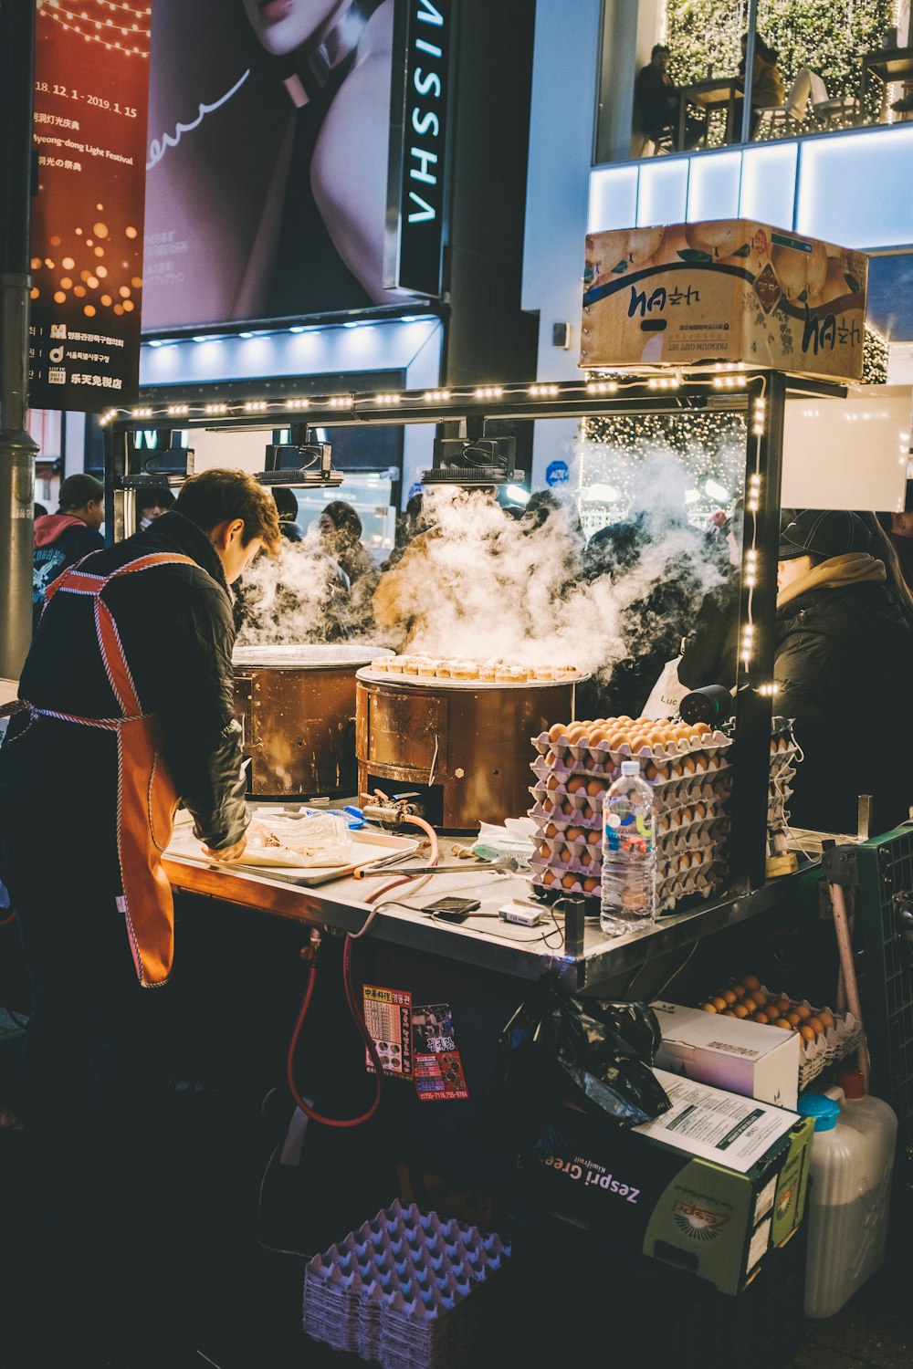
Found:
[(656, 795), (657, 909), (723, 887), (731, 738), (706, 723), (610, 717), (556, 723), (532, 745), (530, 817), (538, 824), (532, 857), (538, 888), (598, 898), (602, 801), (627, 760), (641, 763)]

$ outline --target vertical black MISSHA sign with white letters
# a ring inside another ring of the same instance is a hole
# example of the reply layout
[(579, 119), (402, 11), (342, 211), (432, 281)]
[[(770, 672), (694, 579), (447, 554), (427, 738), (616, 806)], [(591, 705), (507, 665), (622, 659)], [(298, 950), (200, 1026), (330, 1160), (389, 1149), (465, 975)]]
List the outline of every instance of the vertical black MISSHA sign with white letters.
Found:
[(396, 19), (383, 283), (428, 297), (441, 293), (453, 7), (401, 0)]

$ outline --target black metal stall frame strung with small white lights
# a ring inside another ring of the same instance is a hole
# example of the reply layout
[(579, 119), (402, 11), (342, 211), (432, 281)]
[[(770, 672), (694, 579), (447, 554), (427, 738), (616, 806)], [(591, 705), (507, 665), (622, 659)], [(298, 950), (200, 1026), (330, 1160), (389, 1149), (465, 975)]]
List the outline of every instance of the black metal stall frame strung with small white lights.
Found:
[[(654, 374), (606, 372), (557, 383), (453, 386), (424, 392), (339, 390), (315, 396), (290, 394), (289, 387), (287, 378), (281, 386), (263, 382), (263, 397), (256, 400), (246, 397), (249, 386), (237, 393), (231, 383), (214, 386), (208, 393), (193, 385), (186, 394), (181, 386), (170, 386), (166, 393), (156, 387), (144, 390), (140, 402), (130, 409), (110, 409), (101, 418), (105, 498), (114, 512), (110, 537), (120, 539), (133, 531), (136, 489), (144, 483), (162, 483), (162, 474), (144, 472), (144, 453), (131, 441), (137, 428), (263, 431), (266, 448), (278, 428), (307, 433), (312, 427), (344, 424), (434, 423), (441, 426), (442, 435), (457, 435), (460, 423), (467, 420), (478, 426), (498, 419), (683, 416), (706, 411), (745, 413), (745, 530), (735, 687), (738, 763), (731, 798), (730, 894), (719, 908), (738, 905), (746, 897), (764, 891), (786, 398), (788, 393), (842, 398), (846, 397), (846, 387), (745, 364)], [(171, 481), (179, 483), (181, 476), (172, 475)], [(691, 914), (684, 916), (691, 919)], [(728, 917), (721, 916), (724, 921)], [(710, 909), (705, 909), (705, 919), (706, 925), (698, 935), (715, 930), (719, 921)], [(669, 924), (671, 920), (661, 919), (661, 923)], [(713, 928), (710, 923), (715, 923)]]

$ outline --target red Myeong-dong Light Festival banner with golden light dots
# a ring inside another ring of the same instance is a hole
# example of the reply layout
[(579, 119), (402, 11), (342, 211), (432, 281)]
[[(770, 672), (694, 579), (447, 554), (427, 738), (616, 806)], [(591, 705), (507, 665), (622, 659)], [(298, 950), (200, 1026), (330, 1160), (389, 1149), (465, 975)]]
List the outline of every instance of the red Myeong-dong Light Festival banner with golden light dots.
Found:
[(149, 21), (140, 0), (37, 4), (31, 408), (137, 397)]

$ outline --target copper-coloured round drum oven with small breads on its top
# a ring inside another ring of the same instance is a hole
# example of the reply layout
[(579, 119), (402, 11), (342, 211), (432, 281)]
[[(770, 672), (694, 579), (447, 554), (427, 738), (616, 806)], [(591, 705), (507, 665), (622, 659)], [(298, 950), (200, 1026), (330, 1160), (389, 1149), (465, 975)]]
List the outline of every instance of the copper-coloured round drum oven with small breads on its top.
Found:
[(530, 738), (574, 717), (574, 683), (409, 682), (359, 672), (359, 789), (416, 790), (452, 832), (502, 823), (530, 806)]

